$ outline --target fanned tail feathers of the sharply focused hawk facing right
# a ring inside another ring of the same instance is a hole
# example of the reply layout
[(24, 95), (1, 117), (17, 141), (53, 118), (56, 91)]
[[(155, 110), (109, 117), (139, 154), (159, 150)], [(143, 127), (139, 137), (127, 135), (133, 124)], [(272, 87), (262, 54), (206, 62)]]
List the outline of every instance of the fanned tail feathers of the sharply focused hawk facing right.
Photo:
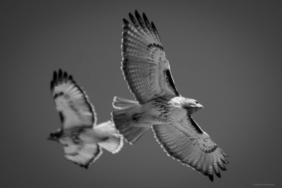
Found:
[(140, 104), (133, 100), (119, 97), (115, 97), (113, 100), (113, 107), (118, 109), (111, 113), (115, 128), (123, 136), (125, 141), (131, 145), (151, 127), (149, 124), (141, 126), (132, 120), (132, 113), (130, 111), (137, 106), (140, 106)]

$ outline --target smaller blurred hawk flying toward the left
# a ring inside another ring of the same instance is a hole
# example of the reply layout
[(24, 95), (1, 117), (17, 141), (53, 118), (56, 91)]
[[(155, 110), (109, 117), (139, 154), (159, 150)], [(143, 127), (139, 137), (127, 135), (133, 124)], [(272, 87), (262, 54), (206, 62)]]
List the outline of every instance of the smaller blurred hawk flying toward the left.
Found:
[(64, 145), (66, 159), (87, 169), (102, 155), (102, 148), (112, 153), (120, 151), (123, 139), (113, 123), (106, 121), (96, 125), (94, 107), (71, 75), (61, 69), (58, 74), (54, 71), (51, 93), (62, 126), (52, 132), (48, 140)]

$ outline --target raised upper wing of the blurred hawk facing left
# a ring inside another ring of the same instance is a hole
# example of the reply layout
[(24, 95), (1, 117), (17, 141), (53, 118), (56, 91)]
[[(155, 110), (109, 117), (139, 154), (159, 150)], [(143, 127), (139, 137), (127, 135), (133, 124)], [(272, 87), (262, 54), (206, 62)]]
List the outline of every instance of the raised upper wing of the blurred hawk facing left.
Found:
[(85, 91), (73, 77), (60, 69), (54, 71), (51, 93), (59, 112), (63, 128), (92, 127), (96, 125), (96, 113)]

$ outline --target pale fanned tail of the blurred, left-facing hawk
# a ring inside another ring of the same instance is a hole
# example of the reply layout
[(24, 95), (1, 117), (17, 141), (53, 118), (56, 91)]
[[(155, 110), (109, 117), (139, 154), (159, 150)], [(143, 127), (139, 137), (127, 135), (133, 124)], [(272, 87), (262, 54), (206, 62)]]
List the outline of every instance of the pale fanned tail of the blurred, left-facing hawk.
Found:
[(117, 130), (115, 130), (113, 122), (107, 121), (100, 123), (95, 127), (95, 129), (99, 129), (109, 135), (108, 139), (99, 142), (98, 145), (112, 153), (117, 153), (120, 151), (123, 146), (123, 139), (121, 135), (118, 134)]

